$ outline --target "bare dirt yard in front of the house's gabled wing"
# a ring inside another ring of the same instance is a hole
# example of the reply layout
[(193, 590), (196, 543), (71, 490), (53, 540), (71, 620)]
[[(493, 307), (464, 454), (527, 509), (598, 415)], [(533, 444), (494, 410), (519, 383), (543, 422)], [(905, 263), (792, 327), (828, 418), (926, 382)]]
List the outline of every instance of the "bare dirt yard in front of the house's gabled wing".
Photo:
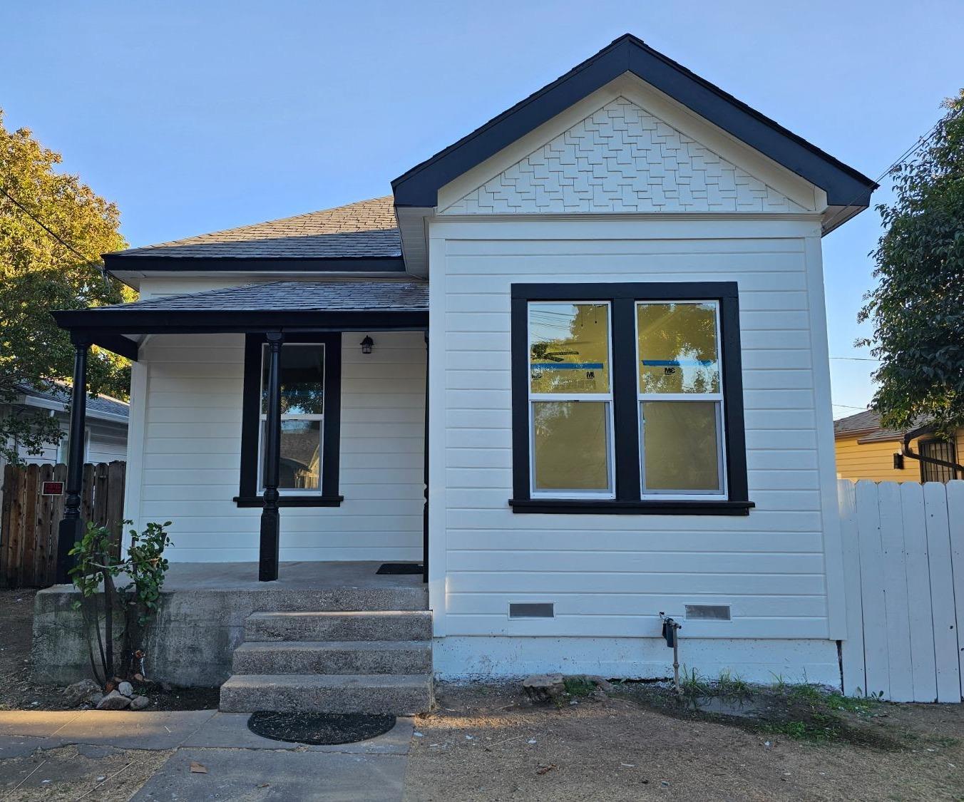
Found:
[(653, 684), (605, 701), (573, 690), (532, 705), (518, 683), (439, 684), (415, 720), (406, 800), (964, 799), (960, 705), (741, 686), (743, 706), (718, 706), (734, 716)]

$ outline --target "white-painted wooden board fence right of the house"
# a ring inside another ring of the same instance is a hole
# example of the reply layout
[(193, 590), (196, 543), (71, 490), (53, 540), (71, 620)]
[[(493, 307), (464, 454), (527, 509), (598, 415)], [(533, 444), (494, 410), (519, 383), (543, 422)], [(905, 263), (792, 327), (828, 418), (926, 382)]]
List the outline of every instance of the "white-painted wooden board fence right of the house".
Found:
[(964, 481), (842, 480), (844, 692), (960, 702)]

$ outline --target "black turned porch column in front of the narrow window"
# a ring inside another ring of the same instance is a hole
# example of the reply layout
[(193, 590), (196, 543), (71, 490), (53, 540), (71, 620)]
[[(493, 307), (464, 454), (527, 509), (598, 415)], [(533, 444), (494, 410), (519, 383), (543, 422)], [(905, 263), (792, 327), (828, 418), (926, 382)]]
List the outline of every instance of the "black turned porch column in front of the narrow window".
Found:
[(281, 518), (278, 512), (278, 481), (281, 470), (281, 332), (269, 332), (268, 409), (264, 424), (264, 507), (261, 509), (261, 543), (257, 578), (272, 582), (278, 578), (278, 548)]

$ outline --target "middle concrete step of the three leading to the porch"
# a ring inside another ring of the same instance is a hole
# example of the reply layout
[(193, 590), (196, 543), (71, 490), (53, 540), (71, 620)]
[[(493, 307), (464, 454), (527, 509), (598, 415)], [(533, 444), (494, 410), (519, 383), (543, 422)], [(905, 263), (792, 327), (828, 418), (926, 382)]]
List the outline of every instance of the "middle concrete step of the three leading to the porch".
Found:
[(234, 650), (234, 674), (427, 674), (425, 640), (253, 641)]

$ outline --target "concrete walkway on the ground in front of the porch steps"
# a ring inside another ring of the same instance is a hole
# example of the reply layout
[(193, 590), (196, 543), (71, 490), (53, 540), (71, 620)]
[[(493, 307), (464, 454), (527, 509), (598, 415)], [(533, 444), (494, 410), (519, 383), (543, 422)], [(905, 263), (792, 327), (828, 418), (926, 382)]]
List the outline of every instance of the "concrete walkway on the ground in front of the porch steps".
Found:
[[(411, 719), (399, 719), (385, 735), (336, 746), (269, 740), (254, 735), (247, 722), (247, 713), (215, 710), (0, 711), (0, 795), (24, 777), (20, 793), (56, 789), (56, 776), (41, 779), (38, 775), (35, 779), (27, 776), (26, 767), (13, 772), (5, 771), (4, 765), (37, 750), (78, 744), (88, 755), (94, 747), (173, 750), (134, 800), (391, 802), (402, 798), (413, 733)], [(192, 772), (192, 762), (200, 763), (206, 772)]]

